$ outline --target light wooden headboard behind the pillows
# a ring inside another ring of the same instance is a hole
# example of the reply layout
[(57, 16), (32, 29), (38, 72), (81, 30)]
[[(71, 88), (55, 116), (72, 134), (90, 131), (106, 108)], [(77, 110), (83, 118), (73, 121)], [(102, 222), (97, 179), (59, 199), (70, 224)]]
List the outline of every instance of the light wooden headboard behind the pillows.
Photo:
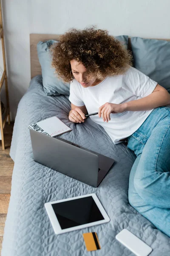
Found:
[[(37, 44), (39, 41), (47, 41), (47, 40), (56, 40), (59, 41), (60, 35), (51, 35), (51, 34), (30, 34), (30, 57), (31, 57), (31, 79), (34, 76), (40, 75), (41, 74), (41, 66), (38, 60), (37, 56)], [(152, 39), (152, 38), (150, 38)], [(155, 39), (155, 38), (153, 38)], [(170, 39), (161, 39), (161, 38), (156, 38), (159, 40), (165, 40), (165, 41), (170, 41)], [(129, 42), (128, 42), (128, 48), (131, 49), (131, 40), (129, 37)]]

